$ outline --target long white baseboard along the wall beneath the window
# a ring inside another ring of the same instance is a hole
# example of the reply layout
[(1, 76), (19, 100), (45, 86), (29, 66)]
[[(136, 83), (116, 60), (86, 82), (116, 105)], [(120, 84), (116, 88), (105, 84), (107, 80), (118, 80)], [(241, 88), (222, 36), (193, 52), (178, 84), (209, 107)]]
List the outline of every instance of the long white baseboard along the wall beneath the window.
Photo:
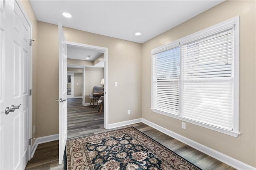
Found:
[(256, 170), (256, 168), (253, 166), (245, 164), (244, 162), (236, 160), (228, 155), (222, 154), (221, 152), (213, 150), (212, 148), (204, 146), (198, 142), (195, 142), (194, 140), (191, 140), (189, 138), (181, 136), (180, 134), (177, 134), (175, 132), (172, 132), (171, 130), (168, 130), (164, 127), (156, 125), (155, 123), (147, 121), (146, 119), (142, 118), (142, 123), (144, 123), (150, 127), (153, 127), (155, 129), (159, 130), (160, 132), (163, 132), (164, 134), (167, 134), (168, 136), (171, 136), (171, 137), (179, 140), (180, 142), (183, 142), (184, 144), (187, 144), (188, 146), (191, 146), (209, 156), (212, 156), (213, 158), (220, 160), (221, 162), (224, 162), (225, 164), (228, 164), (229, 166), (232, 166), (238, 170)]

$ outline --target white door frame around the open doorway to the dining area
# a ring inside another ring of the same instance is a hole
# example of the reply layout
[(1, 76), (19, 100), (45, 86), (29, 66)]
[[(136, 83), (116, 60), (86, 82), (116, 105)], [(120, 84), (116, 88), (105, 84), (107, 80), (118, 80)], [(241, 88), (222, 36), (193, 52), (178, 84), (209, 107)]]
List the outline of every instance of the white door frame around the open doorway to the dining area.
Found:
[[(95, 45), (88, 45), (83, 43), (68, 42), (68, 41), (66, 41), (66, 44), (85, 47), (87, 49), (97, 50), (104, 53), (104, 128), (108, 129), (108, 48), (95, 46)], [(83, 74), (84, 73), (85, 73), (85, 67), (83, 69)], [(85, 85), (84, 81), (85, 80), (83, 80), (83, 86)], [(83, 95), (83, 100), (84, 100), (84, 95)]]

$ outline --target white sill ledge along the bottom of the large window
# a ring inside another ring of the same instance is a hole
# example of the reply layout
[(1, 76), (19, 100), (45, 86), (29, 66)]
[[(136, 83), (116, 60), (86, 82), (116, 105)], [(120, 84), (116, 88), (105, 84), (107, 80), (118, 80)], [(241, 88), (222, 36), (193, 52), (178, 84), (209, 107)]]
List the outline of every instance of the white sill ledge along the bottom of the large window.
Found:
[(194, 125), (198, 125), (200, 127), (204, 127), (204, 128), (208, 128), (210, 130), (214, 130), (214, 131), (217, 131), (217, 132), (220, 132), (220, 133), (224, 133), (224, 134), (227, 134), (227, 135), (230, 135), (230, 136), (234, 136), (234, 137), (237, 137), (240, 132), (235, 132), (235, 131), (232, 131), (232, 130), (226, 130), (226, 129), (223, 129), (223, 128), (218, 128), (218, 127), (214, 127), (214, 126), (211, 126), (211, 125), (206, 125), (204, 123), (200, 123), (200, 122), (196, 122), (196, 121), (192, 121), (190, 119), (186, 119), (184, 117), (180, 117), (178, 115), (172, 115), (170, 113), (166, 113), (164, 111), (160, 111), (160, 110), (157, 110), (157, 109), (153, 109), (151, 108), (151, 111), (152, 112), (156, 112), (156, 113), (160, 113), (162, 115), (166, 115), (168, 117), (172, 117), (172, 118), (175, 118), (175, 119), (179, 119), (181, 121), (186, 121), (188, 123), (192, 123)]

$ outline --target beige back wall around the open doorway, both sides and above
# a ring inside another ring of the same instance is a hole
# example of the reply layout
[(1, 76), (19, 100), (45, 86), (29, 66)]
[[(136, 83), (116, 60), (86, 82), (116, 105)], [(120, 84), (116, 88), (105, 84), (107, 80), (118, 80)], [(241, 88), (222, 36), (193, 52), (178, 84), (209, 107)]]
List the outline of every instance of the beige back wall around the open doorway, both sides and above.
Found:
[[(142, 45), (72, 28), (64, 28), (64, 34), (70, 42), (108, 47), (109, 123), (141, 118)], [(36, 119), (41, 137), (58, 134), (58, 26), (38, 21), (38, 45)]]

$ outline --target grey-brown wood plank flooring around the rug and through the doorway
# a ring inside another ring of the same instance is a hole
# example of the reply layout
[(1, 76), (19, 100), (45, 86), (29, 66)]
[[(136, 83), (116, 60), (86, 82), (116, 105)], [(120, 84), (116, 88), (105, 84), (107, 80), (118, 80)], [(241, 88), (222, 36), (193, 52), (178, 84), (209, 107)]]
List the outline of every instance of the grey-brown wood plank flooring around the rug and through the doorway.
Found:
[[(87, 136), (114, 129), (104, 129), (104, 114), (100, 115), (98, 108), (82, 106), (82, 100), (68, 100), (68, 138)], [(234, 170), (224, 164), (144, 123), (137, 123), (133, 126), (150, 136), (160, 144), (179, 154), (186, 160), (204, 170)], [(120, 127), (124, 128), (124, 127)], [(34, 157), (28, 162), (28, 170), (62, 170), (64, 164), (58, 164), (58, 140), (39, 144)]]

